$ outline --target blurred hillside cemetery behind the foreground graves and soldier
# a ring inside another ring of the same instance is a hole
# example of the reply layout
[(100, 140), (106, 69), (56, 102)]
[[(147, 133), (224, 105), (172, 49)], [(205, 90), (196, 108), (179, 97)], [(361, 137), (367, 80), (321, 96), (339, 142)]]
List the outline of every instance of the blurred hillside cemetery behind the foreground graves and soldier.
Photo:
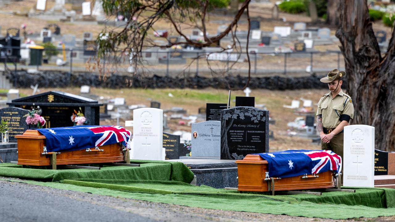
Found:
[[(60, 90), (103, 103), (100, 124), (108, 125), (132, 119), (134, 109), (156, 107), (164, 109), (164, 132), (180, 135), (183, 143), (190, 140), (191, 124), (206, 120), (207, 103), (228, 102), (228, 91), (223, 89), (226, 84), (218, 87), (221, 83), (209, 83), (213, 77), (228, 77), (216, 76), (211, 70), (227, 70), (227, 75), (238, 79), (242, 86), (248, 73), (249, 53), (251, 76), (266, 79), (251, 81), (251, 89), (244, 92), (232, 92), (231, 106), (235, 105), (235, 96), (251, 96), (255, 107), (270, 111), (271, 151), (319, 148), (316, 103), (327, 89), (318, 79), (334, 68), (344, 70), (344, 58), (336, 30), (324, 23), (325, 15), (320, 15), (312, 2), (304, 11), (292, 14), (282, 10), (283, 2), (254, 0), (250, 4), (248, 52), (246, 19), (237, 28), (241, 53), (217, 53), (219, 45), (160, 47), (182, 37), (169, 24), (158, 21), (154, 24), (156, 32), (149, 36), (159, 46), (143, 49), (145, 67), (134, 70), (128, 53), (98, 58), (97, 40), (107, 38), (99, 33), (106, 28), (122, 28), (133, 19), (127, 15), (105, 15), (100, 0), (0, 0), (0, 108), (7, 107), (6, 103), (13, 99)], [(389, 15), (395, 12), (395, 6), (387, 0), (368, 2), (375, 21), (373, 29), (385, 51), (392, 24), (387, 19), (394, 19)], [(208, 36), (222, 32), (230, 23), (233, 15), (229, 11), (216, 9), (209, 14)], [(200, 30), (186, 30), (192, 40), (202, 39)], [(231, 36), (220, 41), (225, 48), (231, 44)], [(127, 88), (135, 82), (124, 76), (135, 72), (144, 72), (152, 82), (159, 77), (171, 79), (164, 79), (162, 85), (157, 81), (155, 85), (148, 83), (143, 87), (148, 89)], [(302, 77), (306, 78), (288, 80)], [(108, 78), (113, 78), (111, 84), (97, 84)], [(194, 81), (193, 87), (186, 83), (188, 79)], [(180, 85), (181, 89), (166, 89)], [(222, 89), (214, 89), (217, 87)]]

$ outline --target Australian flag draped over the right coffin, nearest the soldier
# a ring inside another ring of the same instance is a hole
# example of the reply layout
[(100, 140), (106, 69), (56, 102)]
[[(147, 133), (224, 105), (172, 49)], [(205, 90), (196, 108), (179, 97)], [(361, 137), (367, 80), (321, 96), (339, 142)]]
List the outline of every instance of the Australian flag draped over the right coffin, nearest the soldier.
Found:
[(290, 150), (259, 153), (268, 162), (269, 177), (295, 177), (304, 174), (340, 172), (342, 159), (332, 151)]

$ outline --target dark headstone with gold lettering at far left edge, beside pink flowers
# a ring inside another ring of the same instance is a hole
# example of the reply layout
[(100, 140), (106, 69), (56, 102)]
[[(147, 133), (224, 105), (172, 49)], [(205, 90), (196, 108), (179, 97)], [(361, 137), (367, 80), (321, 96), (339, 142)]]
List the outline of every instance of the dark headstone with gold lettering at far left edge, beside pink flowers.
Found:
[(17, 141), (15, 135), (23, 134), (29, 128), (29, 125), (26, 123), (26, 117), (23, 117), (28, 113), (28, 110), (17, 107), (0, 109), (0, 121), (6, 120), (9, 124), (8, 140), (10, 142)]

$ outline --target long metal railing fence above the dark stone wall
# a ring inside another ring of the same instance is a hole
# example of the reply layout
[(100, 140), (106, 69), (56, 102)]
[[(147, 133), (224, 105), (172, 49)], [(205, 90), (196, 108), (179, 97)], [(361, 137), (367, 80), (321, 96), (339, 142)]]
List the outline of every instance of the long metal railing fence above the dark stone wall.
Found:
[[(15, 56), (16, 51), (23, 56)], [(99, 68), (94, 67), (94, 62), (100, 64), (100, 70), (114, 73), (130, 72), (130, 61), (128, 55), (118, 57), (107, 56), (96, 57), (96, 51), (84, 49), (66, 48), (54, 49), (58, 51), (57, 56), (53, 56), (48, 64), (32, 62), (32, 58), (26, 59), (28, 55), (33, 55), (30, 50), (20, 47), (1, 47), (0, 61), (4, 63), (4, 70), (16, 71), (18, 68), (38, 70), (59, 70), (73, 73), (73, 71), (98, 72)], [(49, 50), (49, 49), (45, 49)], [(64, 55), (64, 56), (63, 56)], [(173, 76), (180, 73), (186, 75), (213, 75), (213, 73), (233, 73), (246, 75), (248, 73), (248, 62), (246, 53), (212, 53), (203, 50), (198, 51), (175, 51), (157, 50), (142, 52), (144, 68), (148, 73), (156, 75)], [(311, 74), (314, 72), (327, 72), (333, 68), (343, 69), (344, 59), (339, 51), (305, 51), (292, 53), (255, 53), (250, 52), (250, 73), (252, 76), (267, 76), (278, 74)], [(62, 66), (56, 65), (56, 59), (66, 58), (66, 63)], [(90, 62), (89, 62), (90, 61)]]

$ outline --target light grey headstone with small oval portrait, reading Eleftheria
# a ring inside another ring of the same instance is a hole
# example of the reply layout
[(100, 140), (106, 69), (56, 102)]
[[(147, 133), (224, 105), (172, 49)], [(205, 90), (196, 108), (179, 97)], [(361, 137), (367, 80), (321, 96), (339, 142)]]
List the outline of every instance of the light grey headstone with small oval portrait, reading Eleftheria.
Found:
[(221, 122), (192, 123), (192, 157), (220, 157)]

